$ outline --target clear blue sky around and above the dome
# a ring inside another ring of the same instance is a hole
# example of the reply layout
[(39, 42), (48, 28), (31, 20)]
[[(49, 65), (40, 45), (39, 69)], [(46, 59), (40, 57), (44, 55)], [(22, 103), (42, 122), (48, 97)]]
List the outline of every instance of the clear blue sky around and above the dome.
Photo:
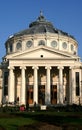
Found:
[(75, 37), (82, 58), (82, 0), (0, 0), (0, 62), (8, 37), (29, 28), (40, 11), (54, 27)]

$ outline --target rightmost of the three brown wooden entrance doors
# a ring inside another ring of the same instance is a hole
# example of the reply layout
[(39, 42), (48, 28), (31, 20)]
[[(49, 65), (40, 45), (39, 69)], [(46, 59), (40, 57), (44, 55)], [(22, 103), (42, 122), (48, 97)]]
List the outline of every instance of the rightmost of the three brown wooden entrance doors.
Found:
[(57, 104), (57, 85), (51, 85), (51, 103)]

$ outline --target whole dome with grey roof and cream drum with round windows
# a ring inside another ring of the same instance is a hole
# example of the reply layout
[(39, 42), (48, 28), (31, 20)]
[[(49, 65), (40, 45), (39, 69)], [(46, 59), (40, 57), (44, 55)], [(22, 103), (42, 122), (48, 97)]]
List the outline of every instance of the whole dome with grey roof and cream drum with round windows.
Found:
[(70, 54), (77, 54), (78, 48), (76, 39), (55, 28), (46, 20), (42, 12), (34, 22), (29, 24), (28, 29), (11, 35), (5, 43), (7, 54), (29, 50), (40, 45)]

